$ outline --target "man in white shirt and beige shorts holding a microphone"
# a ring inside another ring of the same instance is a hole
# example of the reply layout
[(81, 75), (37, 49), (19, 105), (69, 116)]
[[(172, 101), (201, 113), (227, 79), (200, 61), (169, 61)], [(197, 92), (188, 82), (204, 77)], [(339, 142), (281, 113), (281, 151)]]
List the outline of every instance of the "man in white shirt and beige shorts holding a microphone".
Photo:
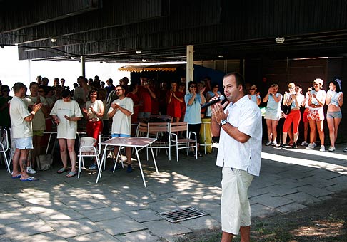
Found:
[(218, 102), (213, 105), (211, 119), (212, 135), (220, 136), (216, 165), (223, 167), (221, 242), (231, 242), (233, 235), (239, 233), (241, 241), (249, 241), (251, 206), (248, 187), (253, 176), (259, 175), (261, 167), (261, 111), (249, 100), (245, 81), (239, 73), (226, 74), (223, 87), (229, 104)]

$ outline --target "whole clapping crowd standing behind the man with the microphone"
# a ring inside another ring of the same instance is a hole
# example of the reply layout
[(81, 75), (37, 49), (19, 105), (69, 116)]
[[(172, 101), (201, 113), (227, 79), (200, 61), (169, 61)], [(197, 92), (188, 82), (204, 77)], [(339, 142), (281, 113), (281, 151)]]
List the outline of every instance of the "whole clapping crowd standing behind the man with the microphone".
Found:
[[(277, 84), (272, 84), (262, 100), (256, 85), (246, 84), (249, 100), (256, 105), (261, 105), (261, 102), (266, 103), (264, 118), (268, 139), (265, 144), (278, 148), (288, 146), (296, 148), (299, 124), (302, 120), (304, 140), (301, 145), (306, 149), (314, 149), (317, 146), (316, 133), (318, 131), (321, 142), (320, 151), (325, 151), (323, 122), (326, 120), (330, 138), (328, 151), (335, 151), (338, 126), (342, 118), (341, 80), (332, 80), (326, 92), (323, 90), (323, 80), (316, 79), (313, 81), (313, 87), (308, 88), (305, 95), (298, 83), (289, 83), (288, 90), (283, 95), (278, 93), (278, 88)], [(112, 137), (134, 136), (135, 126), (132, 124), (137, 124), (141, 120), (150, 120), (153, 115), (168, 115), (172, 117), (171, 122), (188, 122), (188, 130), (196, 132), (199, 137), (201, 119), (212, 115), (211, 106), (201, 108), (201, 105), (223, 93), (223, 89), (219, 88), (218, 83), (211, 82), (209, 77), (203, 78), (200, 82), (191, 81), (187, 88), (186, 78), (168, 83), (141, 76), (139, 80), (132, 80), (129, 85), (129, 78), (124, 77), (119, 80), (118, 85), (114, 85), (111, 78), (104, 83), (98, 76), (95, 76), (94, 79), (80, 76), (74, 83), (74, 88), (70, 90), (65, 85), (64, 78), (60, 80), (54, 78), (54, 83), (50, 86), (48, 78), (38, 76), (36, 82), (29, 85), (30, 93), (27, 93), (27, 88), (23, 83), (16, 83), (12, 89), (14, 98), (16, 97), (14, 103), (17, 103), (18, 106), (17, 110), (13, 110), (13, 115), (10, 105), (13, 98), (9, 96), (9, 85), (1, 85), (0, 88), (0, 115), (2, 117), (0, 126), (6, 127), (11, 132), (15, 143), (16, 139), (23, 138), (22, 135), (16, 137), (15, 134), (19, 134), (18, 129), (21, 130), (20, 133), (26, 134), (24, 137), (32, 136), (32, 144), (24, 143), (27, 152), (25, 154), (19, 152), (14, 155), (14, 159), (18, 159), (14, 161), (14, 165), (20, 163), (21, 170), (14, 169), (12, 177), (21, 177), (21, 179), (34, 179), (28, 174), (36, 173), (36, 162), (34, 161), (42, 154), (44, 132), (51, 131), (53, 124), (56, 125), (63, 163), (63, 167), (58, 170), (58, 173), (69, 172), (66, 177), (74, 177), (76, 175), (74, 146), (78, 130), (85, 130), (88, 137), (94, 137), (96, 140), (99, 139), (99, 134), (111, 134)], [(326, 115), (323, 112), (324, 105), (328, 106)], [(304, 108), (302, 117), (301, 107)], [(27, 112), (24, 112), (24, 109)], [(19, 114), (19, 112), (21, 113)], [(29, 116), (32, 117), (29, 118)], [(278, 140), (278, 121), (283, 117), (282, 136), (281, 140)], [(27, 127), (29, 130), (23, 131), (23, 127)], [(111, 127), (111, 132), (109, 127)], [(23, 148), (20, 145), (19, 147)], [(347, 151), (346, 148), (343, 150)], [(30, 155), (29, 149), (32, 149)], [(70, 170), (68, 170), (68, 154), (71, 161)], [(195, 152), (191, 150), (190, 154), (194, 155)], [(26, 157), (26, 164), (19, 162), (19, 157), (20, 160)], [(126, 150), (126, 157), (127, 171), (131, 172), (131, 152), (129, 150)], [(198, 157), (202, 157), (200, 152), (198, 152)], [(96, 162), (89, 167), (89, 169), (96, 168)]]

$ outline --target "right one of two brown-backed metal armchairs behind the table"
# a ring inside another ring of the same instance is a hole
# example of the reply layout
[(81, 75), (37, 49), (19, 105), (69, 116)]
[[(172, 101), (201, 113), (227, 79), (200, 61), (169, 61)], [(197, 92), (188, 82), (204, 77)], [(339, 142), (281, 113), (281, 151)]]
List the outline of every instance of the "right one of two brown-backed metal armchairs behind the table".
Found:
[[(180, 131), (186, 132), (185, 138), (178, 138), (176, 133)], [(195, 148), (195, 157), (198, 159), (198, 137), (196, 132), (188, 133), (188, 122), (172, 122), (170, 124), (171, 145), (176, 146), (176, 159), (178, 162), (178, 149), (187, 149), (187, 154), (190, 148)]]

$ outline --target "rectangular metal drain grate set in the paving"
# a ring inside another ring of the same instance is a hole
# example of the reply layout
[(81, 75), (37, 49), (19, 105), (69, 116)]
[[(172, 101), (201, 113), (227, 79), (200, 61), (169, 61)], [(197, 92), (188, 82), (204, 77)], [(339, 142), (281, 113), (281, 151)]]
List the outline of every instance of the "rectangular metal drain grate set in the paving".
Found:
[(205, 215), (206, 213), (204, 213), (203, 211), (199, 211), (198, 209), (194, 209), (192, 207), (166, 211), (159, 214), (159, 216), (171, 223), (177, 223), (188, 219), (195, 219)]

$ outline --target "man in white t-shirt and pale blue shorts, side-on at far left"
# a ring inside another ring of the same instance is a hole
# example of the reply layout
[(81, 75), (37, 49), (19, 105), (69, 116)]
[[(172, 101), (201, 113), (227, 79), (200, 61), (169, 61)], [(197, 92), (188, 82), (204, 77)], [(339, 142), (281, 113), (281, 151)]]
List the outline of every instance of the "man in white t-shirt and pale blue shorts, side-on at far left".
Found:
[[(33, 120), (37, 111), (42, 107), (42, 103), (36, 103), (29, 112), (23, 99), (26, 93), (26, 86), (23, 83), (15, 83), (13, 86), (14, 97), (10, 104), (11, 132), (14, 137), (13, 164), (14, 170), (12, 178), (20, 178), (21, 181), (36, 181), (35, 177), (29, 177), (26, 172), (28, 165), (29, 150), (33, 149), (33, 131), (31, 128), (31, 120)], [(19, 166), (18, 166), (19, 165)], [(19, 168), (21, 172), (19, 172)]]

